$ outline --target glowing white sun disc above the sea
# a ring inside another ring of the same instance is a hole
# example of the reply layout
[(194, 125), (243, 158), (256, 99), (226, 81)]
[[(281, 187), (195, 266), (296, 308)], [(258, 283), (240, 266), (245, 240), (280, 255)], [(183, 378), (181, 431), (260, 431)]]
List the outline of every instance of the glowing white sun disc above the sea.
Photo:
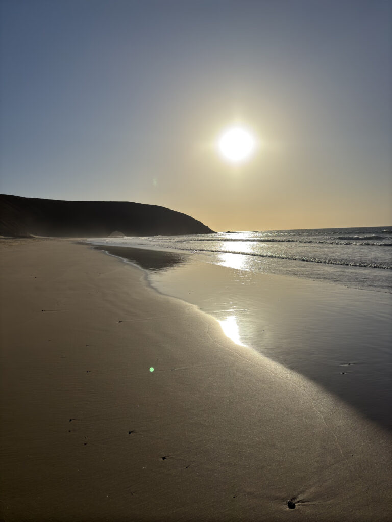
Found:
[(229, 161), (245, 161), (255, 150), (255, 138), (243, 127), (231, 127), (219, 138), (218, 149)]

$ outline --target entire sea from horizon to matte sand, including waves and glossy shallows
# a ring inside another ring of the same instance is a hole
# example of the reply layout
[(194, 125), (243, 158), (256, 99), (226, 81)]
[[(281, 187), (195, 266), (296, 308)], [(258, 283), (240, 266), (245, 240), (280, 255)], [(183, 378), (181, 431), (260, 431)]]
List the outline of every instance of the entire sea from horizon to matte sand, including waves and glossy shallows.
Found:
[(392, 429), (392, 227), (101, 238), (240, 345)]

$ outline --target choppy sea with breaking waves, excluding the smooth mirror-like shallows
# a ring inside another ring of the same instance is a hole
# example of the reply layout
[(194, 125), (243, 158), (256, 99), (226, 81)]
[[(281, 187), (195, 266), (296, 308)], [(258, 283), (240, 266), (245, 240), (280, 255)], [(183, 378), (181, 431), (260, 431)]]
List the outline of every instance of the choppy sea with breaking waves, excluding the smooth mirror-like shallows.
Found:
[(206, 263), (392, 292), (392, 227), (105, 238), (96, 244), (191, 253)]

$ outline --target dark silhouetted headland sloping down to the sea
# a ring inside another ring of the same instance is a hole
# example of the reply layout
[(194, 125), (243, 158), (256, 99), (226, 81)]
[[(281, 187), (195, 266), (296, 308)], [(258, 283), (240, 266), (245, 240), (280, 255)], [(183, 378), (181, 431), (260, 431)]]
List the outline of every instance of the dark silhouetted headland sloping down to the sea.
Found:
[(58, 201), (0, 194), (0, 235), (104, 237), (213, 233), (176, 210), (128, 201)]

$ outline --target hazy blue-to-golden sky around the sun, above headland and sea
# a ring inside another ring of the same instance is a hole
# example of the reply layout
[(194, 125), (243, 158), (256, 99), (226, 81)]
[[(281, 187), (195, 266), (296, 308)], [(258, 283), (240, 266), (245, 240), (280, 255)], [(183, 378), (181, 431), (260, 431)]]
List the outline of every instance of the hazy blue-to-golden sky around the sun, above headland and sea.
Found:
[[(0, 192), (392, 224), (389, 0), (0, 0)], [(255, 137), (241, 163), (226, 128)]]

